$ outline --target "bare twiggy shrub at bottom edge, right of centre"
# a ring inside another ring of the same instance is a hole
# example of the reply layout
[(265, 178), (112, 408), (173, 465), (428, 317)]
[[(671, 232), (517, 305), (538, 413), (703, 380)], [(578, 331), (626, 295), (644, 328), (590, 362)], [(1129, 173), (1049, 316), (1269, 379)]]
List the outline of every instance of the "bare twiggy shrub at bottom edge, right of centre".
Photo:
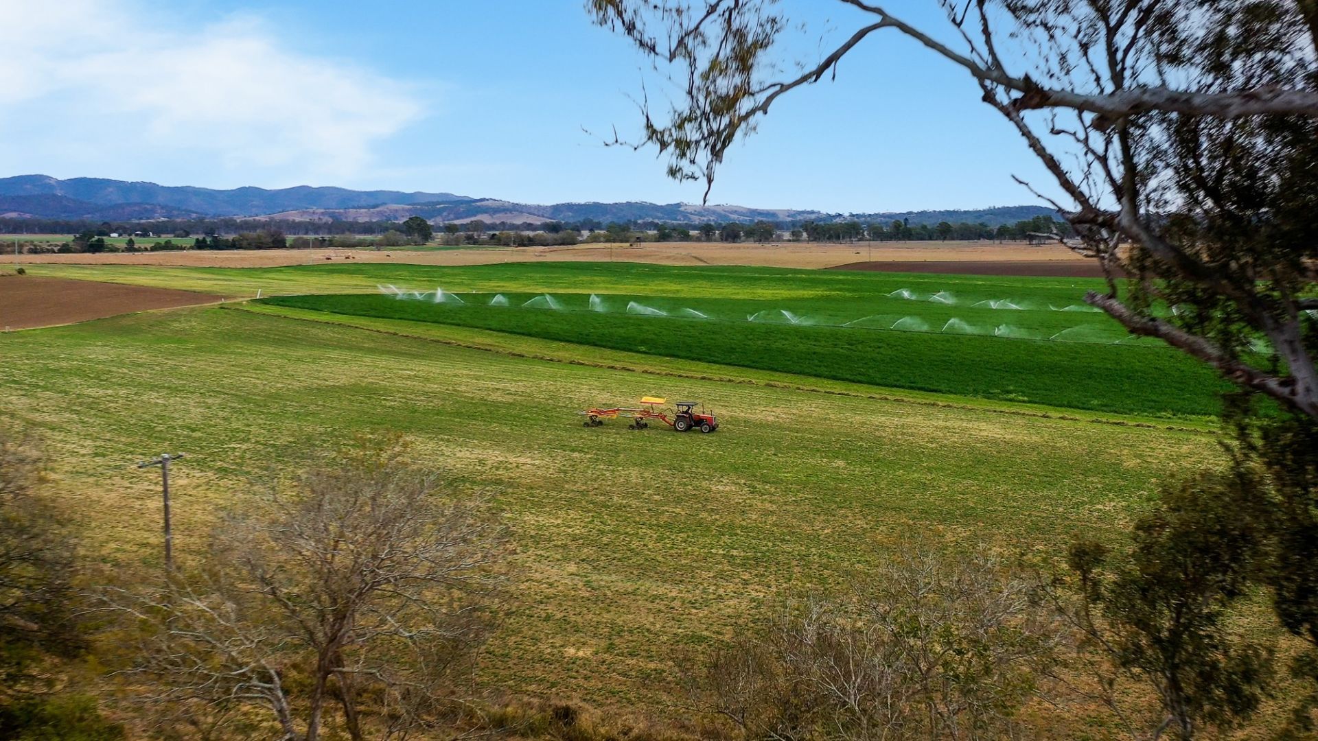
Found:
[(779, 604), (687, 661), (688, 686), (747, 738), (1012, 737), (1066, 641), (1032, 593), (986, 551), (916, 548), (841, 595)]

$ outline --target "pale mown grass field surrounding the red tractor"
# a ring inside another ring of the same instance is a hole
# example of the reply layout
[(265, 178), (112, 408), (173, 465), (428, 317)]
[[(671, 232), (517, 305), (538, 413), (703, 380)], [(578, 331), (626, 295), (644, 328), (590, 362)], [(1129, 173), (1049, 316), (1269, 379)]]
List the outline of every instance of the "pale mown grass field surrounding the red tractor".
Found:
[[(547, 276), (522, 287), (547, 290)], [(456, 487), (492, 492), (514, 530), (513, 604), (485, 679), (667, 712), (673, 651), (774, 593), (837, 583), (912, 538), (1043, 555), (1115, 537), (1159, 481), (1217, 455), (1206, 431), (272, 306), (5, 334), (0, 356), (0, 406), (45, 435), (51, 490), (105, 562), (157, 559), (142, 456), (188, 454), (174, 471), (186, 560), (217, 512), (297, 451), (398, 430)], [(584, 429), (576, 415), (643, 394), (704, 401), (724, 427)]]

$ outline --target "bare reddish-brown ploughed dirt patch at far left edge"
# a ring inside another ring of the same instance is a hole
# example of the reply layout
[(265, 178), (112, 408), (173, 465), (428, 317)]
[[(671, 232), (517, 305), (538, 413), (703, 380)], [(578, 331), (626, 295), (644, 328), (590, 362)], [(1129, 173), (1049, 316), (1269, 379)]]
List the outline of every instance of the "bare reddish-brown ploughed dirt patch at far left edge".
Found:
[(0, 328), (51, 327), (148, 309), (175, 309), (217, 301), (217, 295), (173, 289), (0, 276)]

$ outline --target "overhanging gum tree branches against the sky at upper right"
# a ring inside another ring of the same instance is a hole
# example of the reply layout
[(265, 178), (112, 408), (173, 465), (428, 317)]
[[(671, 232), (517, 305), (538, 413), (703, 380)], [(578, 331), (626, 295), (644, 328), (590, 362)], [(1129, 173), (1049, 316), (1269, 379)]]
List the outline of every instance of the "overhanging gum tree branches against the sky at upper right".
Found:
[(1086, 301), (1318, 417), (1318, 3), (941, 0), (949, 25), (929, 29), (836, 1), (869, 22), (796, 66), (778, 41), (797, 25), (775, 0), (587, 8), (668, 71), (680, 102), (655, 116), (642, 99), (638, 144), (670, 154), (672, 177), (705, 181), (706, 198), (728, 148), (782, 95), (880, 32), (917, 41), (978, 83), (1056, 181), (1070, 247), (1108, 274)]

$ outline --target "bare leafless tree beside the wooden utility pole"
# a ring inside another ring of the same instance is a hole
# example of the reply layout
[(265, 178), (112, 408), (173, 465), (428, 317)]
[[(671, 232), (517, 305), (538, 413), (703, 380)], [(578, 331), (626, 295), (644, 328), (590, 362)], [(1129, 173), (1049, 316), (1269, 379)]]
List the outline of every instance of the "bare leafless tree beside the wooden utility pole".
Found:
[(104, 609), (137, 637), (121, 676), (153, 712), (262, 707), (289, 740), (331, 721), (394, 737), (460, 696), (505, 548), (480, 497), (366, 446), (225, 517), (203, 568), (108, 589)]

